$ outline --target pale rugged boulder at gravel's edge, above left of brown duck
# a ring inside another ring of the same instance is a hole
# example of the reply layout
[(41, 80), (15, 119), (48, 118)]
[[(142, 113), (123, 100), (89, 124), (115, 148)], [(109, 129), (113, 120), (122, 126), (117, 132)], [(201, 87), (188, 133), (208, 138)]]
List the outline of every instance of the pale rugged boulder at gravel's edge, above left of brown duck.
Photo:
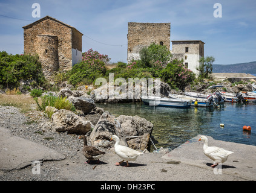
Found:
[(58, 132), (86, 134), (91, 130), (91, 122), (85, 121), (70, 110), (61, 109), (51, 116), (53, 130)]

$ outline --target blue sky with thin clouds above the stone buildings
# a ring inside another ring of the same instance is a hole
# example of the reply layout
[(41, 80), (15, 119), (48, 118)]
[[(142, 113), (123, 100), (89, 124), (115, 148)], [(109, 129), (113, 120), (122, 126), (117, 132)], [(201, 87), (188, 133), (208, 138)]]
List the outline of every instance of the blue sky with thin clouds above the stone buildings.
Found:
[(170, 22), (171, 41), (202, 40), (214, 64), (253, 62), (255, 10), (255, 0), (0, 0), (0, 51), (22, 54), (22, 27), (48, 15), (84, 34), (82, 52), (92, 48), (113, 63), (126, 62), (128, 22)]

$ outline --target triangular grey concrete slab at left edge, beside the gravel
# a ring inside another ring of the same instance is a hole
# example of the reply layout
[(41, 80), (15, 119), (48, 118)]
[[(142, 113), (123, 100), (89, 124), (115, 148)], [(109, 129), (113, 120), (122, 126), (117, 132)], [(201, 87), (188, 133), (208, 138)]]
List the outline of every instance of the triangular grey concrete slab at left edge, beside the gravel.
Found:
[(65, 156), (44, 145), (10, 133), (0, 127), (0, 170), (10, 171), (31, 165), (35, 160), (62, 160)]

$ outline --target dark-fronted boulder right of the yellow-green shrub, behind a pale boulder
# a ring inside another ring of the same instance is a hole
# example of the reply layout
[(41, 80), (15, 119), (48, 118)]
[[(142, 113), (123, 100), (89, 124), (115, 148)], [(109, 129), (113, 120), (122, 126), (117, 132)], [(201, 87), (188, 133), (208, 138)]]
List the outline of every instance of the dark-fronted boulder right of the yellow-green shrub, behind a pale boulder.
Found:
[(96, 106), (94, 100), (91, 98), (87, 98), (86, 96), (74, 97), (70, 96), (68, 100), (73, 104), (76, 109), (82, 110), (85, 114), (88, 114), (93, 110)]

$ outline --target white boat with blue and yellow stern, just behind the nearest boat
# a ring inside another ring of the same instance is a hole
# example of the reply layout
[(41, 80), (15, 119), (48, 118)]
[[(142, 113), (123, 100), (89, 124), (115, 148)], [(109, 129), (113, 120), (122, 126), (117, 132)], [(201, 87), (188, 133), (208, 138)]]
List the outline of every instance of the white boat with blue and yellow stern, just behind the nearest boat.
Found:
[(191, 106), (195, 106), (195, 107), (211, 107), (214, 105), (214, 101), (208, 100), (207, 98), (195, 98), (191, 96), (176, 95), (176, 94), (169, 94), (169, 97), (190, 100)]

